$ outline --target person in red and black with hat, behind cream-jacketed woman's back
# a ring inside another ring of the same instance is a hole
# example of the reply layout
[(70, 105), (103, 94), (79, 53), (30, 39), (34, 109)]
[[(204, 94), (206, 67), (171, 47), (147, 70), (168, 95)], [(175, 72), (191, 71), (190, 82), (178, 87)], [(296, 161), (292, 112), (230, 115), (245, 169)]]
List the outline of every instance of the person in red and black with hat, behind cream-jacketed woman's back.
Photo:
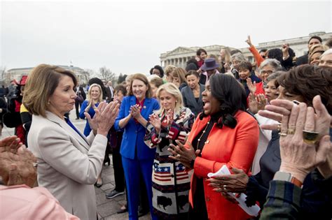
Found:
[(4, 124), (10, 128), (15, 128), (15, 135), (20, 138), (23, 144), (25, 141), (25, 129), (22, 125), (20, 108), (22, 104), (23, 92), (25, 89), (25, 82), (27, 81), (27, 75), (22, 75), (20, 82), (14, 80), (17, 85), (15, 96), (11, 98), (8, 104), (8, 112), (4, 115)]

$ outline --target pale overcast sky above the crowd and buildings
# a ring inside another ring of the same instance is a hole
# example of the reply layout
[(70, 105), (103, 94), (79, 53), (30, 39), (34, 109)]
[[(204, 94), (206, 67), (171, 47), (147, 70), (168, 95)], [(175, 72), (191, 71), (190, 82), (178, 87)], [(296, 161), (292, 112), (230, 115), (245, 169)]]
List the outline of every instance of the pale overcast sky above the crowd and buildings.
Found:
[(148, 73), (176, 47), (246, 47), (331, 32), (331, 1), (4, 2), (0, 66)]

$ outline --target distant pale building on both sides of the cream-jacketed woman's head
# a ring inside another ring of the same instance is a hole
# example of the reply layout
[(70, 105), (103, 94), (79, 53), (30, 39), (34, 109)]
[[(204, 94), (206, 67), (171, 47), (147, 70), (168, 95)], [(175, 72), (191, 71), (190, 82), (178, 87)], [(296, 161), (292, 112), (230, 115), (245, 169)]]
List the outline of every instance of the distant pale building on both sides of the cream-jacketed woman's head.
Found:
[[(59, 66), (61, 68), (64, 68), (68, 71), (72, 71), (75, 73), (76, 78), (78, 79), (78, 82), (80, 84), (86, 85), (88, 83), (88, 80), (90, 78), (90, 75), (85, 72), (82, 68), (79, 68), (77, 66)], [(18, 80), (22, 78), (22, 75), (29, 75), (29, 73), (32, 71), (33, 67), (28, 68), (12, 68), (6, 72), (5, 78), (8, 80)]]

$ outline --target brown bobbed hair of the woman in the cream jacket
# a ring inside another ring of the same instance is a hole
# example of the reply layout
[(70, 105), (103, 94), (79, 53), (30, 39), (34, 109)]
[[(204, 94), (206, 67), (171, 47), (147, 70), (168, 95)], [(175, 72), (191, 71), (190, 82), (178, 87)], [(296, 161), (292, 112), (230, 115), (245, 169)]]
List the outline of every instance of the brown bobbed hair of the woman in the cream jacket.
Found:
[(32, 70), (27, 78), (22, 101), (30, 113), (46, 117), (49, 98), (53, 95), (64, 75), (73, 80), (74, 87), (77, 85), (75, 74), (59, 66), (41, 64)]

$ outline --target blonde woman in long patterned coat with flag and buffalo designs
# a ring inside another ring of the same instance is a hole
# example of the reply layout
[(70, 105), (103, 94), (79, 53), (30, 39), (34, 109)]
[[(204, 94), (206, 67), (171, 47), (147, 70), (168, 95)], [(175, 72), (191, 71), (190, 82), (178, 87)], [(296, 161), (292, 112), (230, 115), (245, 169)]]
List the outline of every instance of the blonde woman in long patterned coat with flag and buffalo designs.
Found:
[(158, 219), (187, 219), (191, 179), (185, 166), (170, 159), (170, 144), (186, 142), (195, 116), (184, 107), (176, 85), (166, 83), (157, 91), (160, 109), (149, 117), (144, 142), (156, 148), (152, 173), (153, 212)]

